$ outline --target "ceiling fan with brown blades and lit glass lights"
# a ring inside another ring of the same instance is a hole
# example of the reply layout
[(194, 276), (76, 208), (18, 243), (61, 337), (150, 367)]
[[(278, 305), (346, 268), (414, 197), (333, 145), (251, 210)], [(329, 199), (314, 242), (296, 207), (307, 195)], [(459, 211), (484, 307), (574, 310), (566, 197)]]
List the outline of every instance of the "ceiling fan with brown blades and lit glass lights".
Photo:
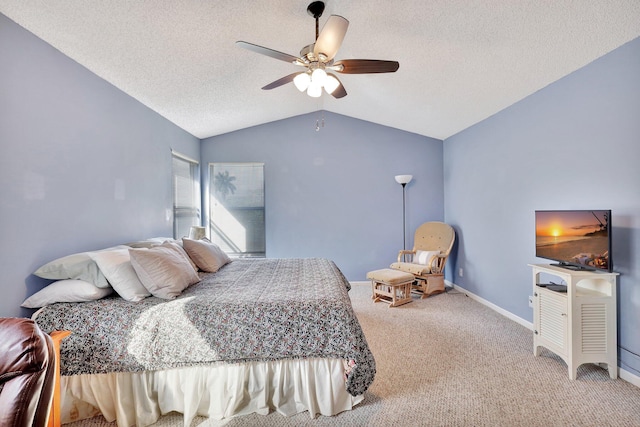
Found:
[(299, 57), (245, 41), (236, 42), (238, 46), (253, 52), (306, 68), (304, 71), (289, 74), (269, 83), (262, 88), (263, 90), (275, 89), (293, 82), (300, 92), (306, 91), (314, 98), (322, 95), (323, 88), (334, 98), (343, 98), (347, 95), (347, 91), (332, 71), (343, 74), (393, 73), (400, 67), (397, 61), (376, 59), (334, 61), (347, 32), (349, 21), (342, 16), (331, 15), (322, 27), (322, 31), (318, 31), (319, 18), (324, 12), (324, 2), (314, 1), (307, 7), (307, 12), (316, 20), (316, 41), (303, 47)]

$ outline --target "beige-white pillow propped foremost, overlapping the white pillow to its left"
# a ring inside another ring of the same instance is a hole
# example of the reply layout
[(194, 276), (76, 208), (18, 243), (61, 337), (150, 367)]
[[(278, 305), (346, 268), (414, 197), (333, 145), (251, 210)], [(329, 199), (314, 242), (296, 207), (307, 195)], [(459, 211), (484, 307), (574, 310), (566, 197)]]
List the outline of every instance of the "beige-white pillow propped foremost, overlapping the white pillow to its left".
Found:
[(168, 246), (129, 249), (131, 265), (153, 296), (173, 299), (200, 277), (182, 253)]

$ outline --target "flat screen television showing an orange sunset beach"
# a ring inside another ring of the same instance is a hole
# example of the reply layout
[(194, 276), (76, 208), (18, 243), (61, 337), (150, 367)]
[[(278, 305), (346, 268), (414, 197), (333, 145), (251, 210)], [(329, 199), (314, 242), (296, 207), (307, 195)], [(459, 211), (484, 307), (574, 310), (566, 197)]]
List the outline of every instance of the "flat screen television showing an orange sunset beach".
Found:
[(610, 210), (536, 211), (536, 257), (561, 267), (613, 271)]

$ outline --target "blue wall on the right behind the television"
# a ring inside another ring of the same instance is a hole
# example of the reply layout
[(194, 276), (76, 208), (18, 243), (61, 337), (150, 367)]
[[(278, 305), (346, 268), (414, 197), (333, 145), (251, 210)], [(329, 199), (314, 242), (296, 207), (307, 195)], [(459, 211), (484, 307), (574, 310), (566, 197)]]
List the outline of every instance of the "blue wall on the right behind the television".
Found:
[(611, 209), (620, 366), (640, 374), (640, 39), (444, 143), (455, 282), (532, 321), (537, 209)]

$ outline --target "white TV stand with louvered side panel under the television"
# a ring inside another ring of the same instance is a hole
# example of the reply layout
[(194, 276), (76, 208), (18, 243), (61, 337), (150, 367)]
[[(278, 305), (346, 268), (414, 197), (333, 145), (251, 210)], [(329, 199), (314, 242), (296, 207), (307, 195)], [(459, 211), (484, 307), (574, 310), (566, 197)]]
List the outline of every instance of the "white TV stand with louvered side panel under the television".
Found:
[[(533, 354), (539, 356), (540, 347), (551, 350), (565, 361), (572, 380), (583, 363), (604, 363), (609, 376), (617, 378), (618, 273), (575, 271), (548, 264), (529, 266), (533, 269)], [(538, 286), (542, 284), (541, 273), (564, 280), (567, 292)]]

